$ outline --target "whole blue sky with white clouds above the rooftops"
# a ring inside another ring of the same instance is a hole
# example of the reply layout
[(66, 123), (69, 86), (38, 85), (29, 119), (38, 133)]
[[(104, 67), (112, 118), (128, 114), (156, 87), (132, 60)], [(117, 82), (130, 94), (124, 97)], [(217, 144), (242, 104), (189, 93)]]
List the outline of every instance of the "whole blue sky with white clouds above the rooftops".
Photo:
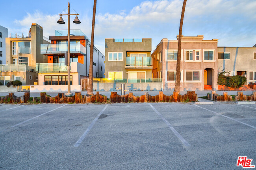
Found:
[[(93, 0), (0, 0), (0, 25), (10, 33), (28, 34), (32, 23), (54, 36), (61, 13), (70, 2), (70, 13), (79, 13), (81, 29), (91, 38)], [(105, 53), (105, 38), (152, 38), (152, 51), (162, 38), (176, 40), (183, 0), (97, 0), (94, 44)], [(74, 9), (74, 11), (73, 11)], [(67, 13), (67, 9), (63, 12)], [(67, 16), (63, 16), (67, 23)], [(187, 0), (182, 35), (219, 39), (218, 46), (256, 44), (256, 0)]]

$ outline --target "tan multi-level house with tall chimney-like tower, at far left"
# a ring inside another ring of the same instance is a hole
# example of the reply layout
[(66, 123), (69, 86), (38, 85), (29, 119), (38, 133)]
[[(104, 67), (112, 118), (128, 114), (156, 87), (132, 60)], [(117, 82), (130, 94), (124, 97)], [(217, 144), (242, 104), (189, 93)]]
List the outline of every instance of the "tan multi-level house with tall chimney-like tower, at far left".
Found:
[(40, 53), (40, 46), (50, 43), (49, 41), (43, 36), (43, 27), (35, 23), (27, 36), (23, 33), (11, 33), (10, 37), (6, 38), (6, 64), (0, 64), (2, 84), (6, 85), (13, 80), (20, 80), (23, 85), (36, 84), (36, 63), (47, 61), (47, 56)]

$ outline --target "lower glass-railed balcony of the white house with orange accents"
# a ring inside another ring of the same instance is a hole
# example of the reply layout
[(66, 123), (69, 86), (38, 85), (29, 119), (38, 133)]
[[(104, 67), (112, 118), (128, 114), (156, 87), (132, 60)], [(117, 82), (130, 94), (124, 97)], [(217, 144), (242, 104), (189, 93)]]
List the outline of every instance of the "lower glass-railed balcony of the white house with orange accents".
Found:
[[(35, 71), (37, 73), (67, 73), (68, 69), (65, 66), (65, 63), (36, 63)], [(86, 67), (84, 64), (79, 62), (70, 63), (70, 72), (71, 73), (85, 73)]]

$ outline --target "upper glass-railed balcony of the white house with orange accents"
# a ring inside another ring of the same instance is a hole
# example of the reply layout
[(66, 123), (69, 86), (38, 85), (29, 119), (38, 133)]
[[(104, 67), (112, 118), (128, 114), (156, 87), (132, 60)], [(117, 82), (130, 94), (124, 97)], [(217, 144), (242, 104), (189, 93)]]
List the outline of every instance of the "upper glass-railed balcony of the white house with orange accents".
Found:
[[(68, 50), (68, 44), (41, 44), (41, 54), (54, 55), (64, 54)], [(70, 53), (82, 54), (86, 53), (86, 48), (80, 43), (70, 43)]]

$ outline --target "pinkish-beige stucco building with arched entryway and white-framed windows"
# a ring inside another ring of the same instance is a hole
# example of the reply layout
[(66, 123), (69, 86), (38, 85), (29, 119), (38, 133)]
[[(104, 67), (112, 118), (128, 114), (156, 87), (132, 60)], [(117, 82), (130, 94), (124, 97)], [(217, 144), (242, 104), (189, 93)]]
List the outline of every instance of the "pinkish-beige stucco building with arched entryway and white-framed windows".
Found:
[[(217, 90), (218, 39), (204, 40), (203, 35), (182, 35), (180, 90)], [(176, 79), (177, 40), (163, 38), (151, 54), (152, 78), (163, 79), (164, 90), (174, 90)]]

